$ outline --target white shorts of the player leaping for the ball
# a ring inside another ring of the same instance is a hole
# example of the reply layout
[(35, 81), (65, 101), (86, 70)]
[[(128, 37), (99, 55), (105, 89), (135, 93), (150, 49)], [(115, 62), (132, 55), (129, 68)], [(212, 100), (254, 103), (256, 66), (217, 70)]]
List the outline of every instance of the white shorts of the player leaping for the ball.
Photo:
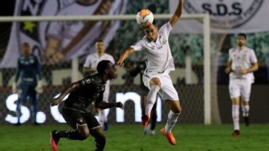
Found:
[(161, 96), (162, 100), (179, 100), (179, 95), (175, 87), (172, 84), (172, 80), (170, 75), (168, 74), (169, 71), (165, 71), (163, 73), (144, 73), (143, 74), (143, 83), (145, 84), (148, 89), (150, 89), (150, 80), (152, 78), (159, 78), (161, 81), (161, 89), (159, 90), (159, 95)]

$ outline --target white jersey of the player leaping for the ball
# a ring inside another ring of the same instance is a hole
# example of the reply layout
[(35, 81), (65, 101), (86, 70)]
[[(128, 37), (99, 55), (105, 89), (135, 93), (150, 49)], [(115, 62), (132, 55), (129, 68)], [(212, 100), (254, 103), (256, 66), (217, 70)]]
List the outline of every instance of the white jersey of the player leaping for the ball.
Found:
[(174, 60), (168, 43), (171, 30), (172, 26), (168, 22), (161, 26), (156, 42), (150, 41), (144, 36), (135, 45), (130, 46), (135, 51), (142, 51), (146, 55), (146, 71), (163, 72), (166, 69), (175, 70)]

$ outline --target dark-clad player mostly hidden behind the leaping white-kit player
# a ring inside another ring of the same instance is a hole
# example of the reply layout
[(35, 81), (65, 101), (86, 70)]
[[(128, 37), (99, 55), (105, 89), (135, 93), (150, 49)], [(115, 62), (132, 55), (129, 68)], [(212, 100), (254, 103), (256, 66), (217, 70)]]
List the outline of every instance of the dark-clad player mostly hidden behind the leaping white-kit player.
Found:
[[(137, 62), (137, 66), (134, 69), (130, 70), (130, 76), (135, 78), (139, 74), (140, 78), (140, 89), (141, 89), (141, 110), (142, 115), (145, 115), (145, 108), (147, 102), (148, 88), (143, 84), (143, 73), (146, 69), (146, 62)], [(157, 102), (152, 107), (151, 115), (150, 115), (150, 124), (144, 127), (144, 135), (150, 134), (155, 135), (155, 127), (157, 122)]]

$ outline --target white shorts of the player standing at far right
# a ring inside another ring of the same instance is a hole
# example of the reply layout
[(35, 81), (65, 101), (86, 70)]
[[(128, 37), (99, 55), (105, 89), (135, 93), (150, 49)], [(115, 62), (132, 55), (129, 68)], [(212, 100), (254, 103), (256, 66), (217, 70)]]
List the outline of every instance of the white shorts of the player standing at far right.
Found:
[(230, 98), (242, 97), (243, 101), (250, 100), (251, 82), (230, 81), (229, 82)]

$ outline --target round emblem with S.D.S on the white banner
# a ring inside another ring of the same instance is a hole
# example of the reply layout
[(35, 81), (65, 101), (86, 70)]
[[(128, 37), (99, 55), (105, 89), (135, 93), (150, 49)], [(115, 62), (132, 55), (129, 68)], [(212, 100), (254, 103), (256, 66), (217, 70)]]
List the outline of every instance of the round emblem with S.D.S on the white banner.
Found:
[(261, 8), (263, 2), (263, 0), (186, 0), (184, 8), (188, 13), (210, 14), (211, 27), (230, 29), (240, 27), (250, 21)]

